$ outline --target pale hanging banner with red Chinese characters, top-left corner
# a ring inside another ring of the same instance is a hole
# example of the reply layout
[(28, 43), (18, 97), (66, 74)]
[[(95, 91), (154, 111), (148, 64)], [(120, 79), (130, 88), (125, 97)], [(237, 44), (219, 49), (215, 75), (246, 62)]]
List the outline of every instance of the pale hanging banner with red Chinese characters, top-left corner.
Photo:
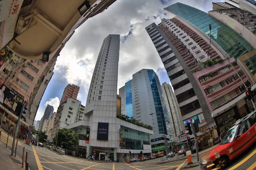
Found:
[(12, 40), (23, 0), (0, 1), (0, 49)]

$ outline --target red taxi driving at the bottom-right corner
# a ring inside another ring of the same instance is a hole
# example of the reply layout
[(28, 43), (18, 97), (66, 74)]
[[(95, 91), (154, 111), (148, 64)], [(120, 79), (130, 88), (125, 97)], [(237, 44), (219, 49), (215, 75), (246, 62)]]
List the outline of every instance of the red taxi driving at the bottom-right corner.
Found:
[(212, 149), (208, 160), (200, 160), (203, 170), (224, 169), (230, 161), (256, 142), (256, 112), (252, 112), (227, 131), (221, 143)]

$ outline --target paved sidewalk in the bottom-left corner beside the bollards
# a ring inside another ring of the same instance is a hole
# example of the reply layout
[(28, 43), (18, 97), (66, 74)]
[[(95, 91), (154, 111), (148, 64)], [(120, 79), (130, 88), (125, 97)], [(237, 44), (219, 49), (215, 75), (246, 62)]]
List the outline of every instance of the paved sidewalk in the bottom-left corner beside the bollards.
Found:
[(6, 148), (6, 145), (3, 142), (0, 142), (0, 170), (25, 170), (25, 162), (24, 167), (22, 166), (22, 160), (17, 156), (11, 156), (11, 150)]

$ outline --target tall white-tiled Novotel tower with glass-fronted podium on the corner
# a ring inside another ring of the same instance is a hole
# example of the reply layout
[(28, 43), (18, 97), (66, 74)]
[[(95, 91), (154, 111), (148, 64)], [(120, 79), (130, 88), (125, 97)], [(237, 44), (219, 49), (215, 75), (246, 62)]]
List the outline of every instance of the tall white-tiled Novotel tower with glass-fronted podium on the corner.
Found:
[(130, 153), (131, 158), (151, 155), (153, 131), (116, 115), (119, 48), (119, 35), (110, 34), (103, 40), (90, 83), (85, 119), (66, 127), (79, 136), (90, 134), (79, 139), (79, 147), (86, 156), (95, 154), (99, 160), (111, 157), (124, 161)]

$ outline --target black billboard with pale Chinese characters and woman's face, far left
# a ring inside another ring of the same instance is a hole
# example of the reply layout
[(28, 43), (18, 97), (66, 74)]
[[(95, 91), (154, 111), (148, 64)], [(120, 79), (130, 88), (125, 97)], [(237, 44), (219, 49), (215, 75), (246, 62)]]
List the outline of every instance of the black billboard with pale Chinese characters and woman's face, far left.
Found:
[(1, 84), (0, 103), (18, 116), (23, 105), (23, 98), (7, 88), (5, 84)]

